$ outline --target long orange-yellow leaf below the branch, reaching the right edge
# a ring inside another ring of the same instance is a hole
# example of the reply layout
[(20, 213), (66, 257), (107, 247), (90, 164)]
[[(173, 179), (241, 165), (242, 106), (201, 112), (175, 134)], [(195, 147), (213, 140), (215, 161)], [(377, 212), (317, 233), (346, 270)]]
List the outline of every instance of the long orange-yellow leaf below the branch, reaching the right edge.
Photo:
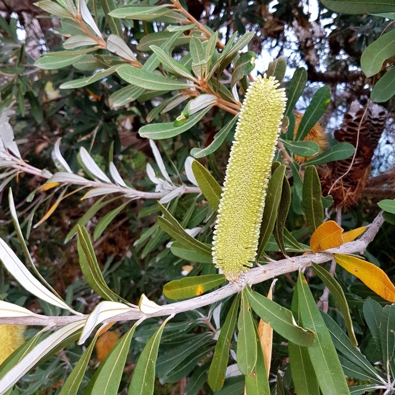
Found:
[(388, 276), (376, 265), (351, 255), (333, 254), (335, 261), (347, 272), (358, 277), (383, 299), (395, 302), (395, 286)]

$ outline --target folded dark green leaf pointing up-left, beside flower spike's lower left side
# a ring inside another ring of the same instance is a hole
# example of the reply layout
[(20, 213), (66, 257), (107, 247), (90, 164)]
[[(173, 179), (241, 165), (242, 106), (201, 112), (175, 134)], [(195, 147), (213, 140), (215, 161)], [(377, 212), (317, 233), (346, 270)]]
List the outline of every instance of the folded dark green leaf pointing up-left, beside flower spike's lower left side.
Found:
[(158, 205), (163, 213), (163, 217), (158, 217), (158, 224), (164, 232), (168, 233), (181, 244), (190, 247), (191, 249), (195, 249), (197, 252), (211, 253), (211, 247), (208, 244), (204, 244), (189, 235), (162, 204), (158, 202)]

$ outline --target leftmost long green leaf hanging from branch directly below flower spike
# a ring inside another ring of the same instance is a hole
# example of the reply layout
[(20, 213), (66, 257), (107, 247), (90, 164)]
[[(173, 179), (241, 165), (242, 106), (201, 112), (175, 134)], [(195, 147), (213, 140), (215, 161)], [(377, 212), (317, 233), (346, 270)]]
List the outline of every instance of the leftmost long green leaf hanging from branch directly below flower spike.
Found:
[(224, 385), (239, 303), (240, 293), (237, 293), (226, 316), (225, 322), (221, 327), (215, 346), (214, 356), (208, 371), (208, 385), (213, 391), (219, 391)]

